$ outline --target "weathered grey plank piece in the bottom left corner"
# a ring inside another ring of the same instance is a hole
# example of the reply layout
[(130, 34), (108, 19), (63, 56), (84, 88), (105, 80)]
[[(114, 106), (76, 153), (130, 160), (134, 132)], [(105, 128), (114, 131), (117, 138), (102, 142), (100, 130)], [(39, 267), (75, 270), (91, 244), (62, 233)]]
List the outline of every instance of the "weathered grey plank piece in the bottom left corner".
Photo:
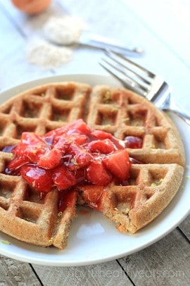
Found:
[(0, 285), (42, 285), (28, 263), (0, 255)]

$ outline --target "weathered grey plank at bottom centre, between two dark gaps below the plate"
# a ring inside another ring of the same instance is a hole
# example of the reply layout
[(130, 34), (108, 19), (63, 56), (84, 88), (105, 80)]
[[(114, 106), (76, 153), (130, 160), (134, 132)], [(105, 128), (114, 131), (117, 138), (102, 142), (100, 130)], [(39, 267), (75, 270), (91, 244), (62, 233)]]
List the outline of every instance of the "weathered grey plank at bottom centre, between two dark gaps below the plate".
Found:
[(50, 267), (33, 265), (40, 280), (46, 286), (51, 285), (83, 285), (83, 286), (128, 286), (129, 278), (116, 261), (92, 266)]

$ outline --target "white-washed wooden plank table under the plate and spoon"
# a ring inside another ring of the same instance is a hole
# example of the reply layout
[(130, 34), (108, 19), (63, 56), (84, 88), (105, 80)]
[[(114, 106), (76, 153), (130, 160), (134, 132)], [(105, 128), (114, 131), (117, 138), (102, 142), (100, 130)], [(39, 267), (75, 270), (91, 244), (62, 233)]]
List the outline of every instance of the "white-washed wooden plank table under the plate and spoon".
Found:
[[(47, 75), (106, 72), (102, 51), (75, 49), (70, 63), (44, 70), (26, 61), (25, 46), (50, 15), (68, 13), (85, 20), (92, 32), (141, 46), (136, 61), (170, 82), (172, 95), (190, 108), (190, 4), (188, 0), (55, 0), (45, 13), (28, 17), (0, 0), (0, 89)], [(190, 208), (190, 204), (189, 204)], [(53, 267), (0, 255), (0, 285), (189, 285), (190, 216), (159, 242), (107, 263)]]

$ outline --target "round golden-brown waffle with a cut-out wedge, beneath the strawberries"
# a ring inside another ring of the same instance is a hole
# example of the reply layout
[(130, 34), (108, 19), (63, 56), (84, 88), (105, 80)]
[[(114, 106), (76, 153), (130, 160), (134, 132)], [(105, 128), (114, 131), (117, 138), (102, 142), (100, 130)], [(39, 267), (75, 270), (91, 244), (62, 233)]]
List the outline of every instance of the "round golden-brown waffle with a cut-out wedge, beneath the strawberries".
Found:
[[(4, 170), (13, 155), (4, 147), (20, 142), (22, 132), (46, 132), (83, 118), (90, 128), (119, 139), (137, 136), (141, 149), (127, 149), (135, 164), (129, 185), (77, 187), (69, 206), (58, 212), (57, 189), (46, 196)], [(77, 205), (89, 192), (101, 193), (99, 210), (122, 232), (137, 232), (165, 209), (184, 173), (184, 147), (170, 118), (126, 89), (77, 82), (49, 83), (18, 94), (0, 106), (0, 230), (18, 240), (64, 249)]]

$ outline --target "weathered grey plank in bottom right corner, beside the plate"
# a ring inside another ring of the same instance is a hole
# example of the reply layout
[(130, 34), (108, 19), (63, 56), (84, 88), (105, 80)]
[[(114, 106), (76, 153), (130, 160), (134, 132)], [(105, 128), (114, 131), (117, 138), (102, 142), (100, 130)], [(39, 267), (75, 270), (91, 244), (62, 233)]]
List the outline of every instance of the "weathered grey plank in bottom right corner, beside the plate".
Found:
[(136, 286), (189, 285), (189, 243), (178, 230), (119, 262)]

